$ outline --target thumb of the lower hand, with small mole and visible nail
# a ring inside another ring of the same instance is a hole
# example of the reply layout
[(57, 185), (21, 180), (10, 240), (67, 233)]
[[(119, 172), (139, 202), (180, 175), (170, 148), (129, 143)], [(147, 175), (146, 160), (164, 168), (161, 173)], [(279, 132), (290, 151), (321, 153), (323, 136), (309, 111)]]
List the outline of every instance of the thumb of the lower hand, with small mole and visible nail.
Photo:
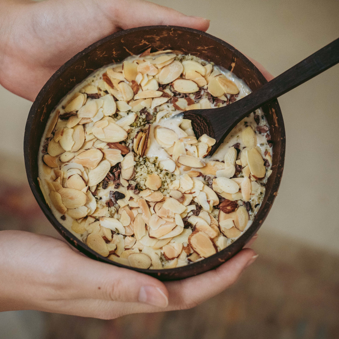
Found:
[(65, 278), (71, 286), (68, 291), (72, 298), (142, 302), (159, 307), (168, 305), (166, 287), (156, 278), (98, 262), (73, 251), (72, 260), (68, 258), (67, 262), (69, 267), (63, 266), (62, 273), (68, 272)]

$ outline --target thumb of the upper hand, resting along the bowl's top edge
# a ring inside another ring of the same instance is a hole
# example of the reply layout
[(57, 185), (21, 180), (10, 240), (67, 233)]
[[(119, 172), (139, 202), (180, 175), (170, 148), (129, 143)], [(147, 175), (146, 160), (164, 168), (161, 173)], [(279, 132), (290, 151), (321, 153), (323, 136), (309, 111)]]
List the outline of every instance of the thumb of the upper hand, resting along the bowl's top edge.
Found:
[(123, 29), (150, 25), (174, 25), (207, 31), (210, 26), (208, 19), (187, 16), (172, 8), (143, 0), (111, 1), (107, 3), (107, 6), (108, 13), (113, 15), (116, 24)]

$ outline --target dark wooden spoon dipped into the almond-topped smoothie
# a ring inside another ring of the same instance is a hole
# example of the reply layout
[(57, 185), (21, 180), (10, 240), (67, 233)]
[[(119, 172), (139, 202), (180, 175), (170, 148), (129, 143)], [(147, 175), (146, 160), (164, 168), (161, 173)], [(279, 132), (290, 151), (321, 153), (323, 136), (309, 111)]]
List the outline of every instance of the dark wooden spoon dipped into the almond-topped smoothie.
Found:
[(338, 62), (339, 38), (244, 98), (219, 108), (192, 109), (184, 112), (184, 118), (192, 121), (192, 127), (197, 137), (207, 134), (216, 139), (209, 154), (212, 155), (233, 127), (248, 114), (326, 71)]

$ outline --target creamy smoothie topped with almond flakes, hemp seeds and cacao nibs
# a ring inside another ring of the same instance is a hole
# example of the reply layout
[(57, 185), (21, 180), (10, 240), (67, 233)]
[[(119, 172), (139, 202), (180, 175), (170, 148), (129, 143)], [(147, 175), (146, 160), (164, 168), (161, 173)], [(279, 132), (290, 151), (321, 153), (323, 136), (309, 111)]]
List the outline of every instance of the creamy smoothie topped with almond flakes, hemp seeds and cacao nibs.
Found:
[(180, 113), (250, 93), (235, 79), (197, 57), (148, 49), (77, 85), (40, 147), (38, 181), (54, 215), (100, 255), (139, 268), (187, 265), (231, 244), (272, 172), (266, 120), (252, 113), (211, 158), (215, 140), (197, 140)]

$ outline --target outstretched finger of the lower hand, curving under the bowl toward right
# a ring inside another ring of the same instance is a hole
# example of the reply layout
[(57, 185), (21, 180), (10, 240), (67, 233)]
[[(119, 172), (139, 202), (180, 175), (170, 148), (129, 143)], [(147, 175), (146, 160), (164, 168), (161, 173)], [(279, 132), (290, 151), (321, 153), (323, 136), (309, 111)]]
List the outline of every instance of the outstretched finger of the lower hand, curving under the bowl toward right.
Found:
[(180, 281), (165, 283), (169, 293), (169, 309), (194, 307), (231, 286), (245, 267), (257, 258), (246, 248), (215, 270)]

